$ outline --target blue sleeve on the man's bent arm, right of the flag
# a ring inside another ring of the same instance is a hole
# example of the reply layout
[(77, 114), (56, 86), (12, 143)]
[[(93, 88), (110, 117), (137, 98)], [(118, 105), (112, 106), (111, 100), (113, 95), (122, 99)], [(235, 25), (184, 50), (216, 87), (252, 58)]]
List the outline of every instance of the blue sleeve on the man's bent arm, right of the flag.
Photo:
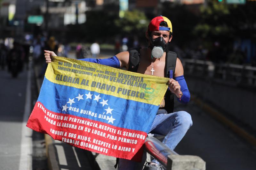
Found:
[(189, 99), (190, 99), (190, 93), (188, 91), (188, 85), (186, 83), (186, 80), (184, 78), (184, 76), (178, 76), (175, 77), (174, 80), (178, 81), (180, 84), (180, 90), (182, 92), (182, 96), (181, 98), (177, 98), (178, 101), (180, 101), (181, 103), (188, 103)]

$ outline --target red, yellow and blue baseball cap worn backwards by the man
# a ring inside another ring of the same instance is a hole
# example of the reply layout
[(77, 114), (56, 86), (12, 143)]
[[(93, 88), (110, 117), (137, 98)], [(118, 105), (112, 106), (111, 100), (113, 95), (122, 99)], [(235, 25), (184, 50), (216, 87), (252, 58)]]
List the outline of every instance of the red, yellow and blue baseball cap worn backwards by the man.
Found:
[[(162, 21), (165, 21), (167, 23), (168, 27), (160, 26), (160, 23)], [(153, 18), (150, 21), (148, 28), (149, 28), (149, 31), (165, 30), (165, 31), (170, 31), (172, 33), (172, 23), (168, 18), (166, 18), (164, 16), (159, 16), (159, 17)]]

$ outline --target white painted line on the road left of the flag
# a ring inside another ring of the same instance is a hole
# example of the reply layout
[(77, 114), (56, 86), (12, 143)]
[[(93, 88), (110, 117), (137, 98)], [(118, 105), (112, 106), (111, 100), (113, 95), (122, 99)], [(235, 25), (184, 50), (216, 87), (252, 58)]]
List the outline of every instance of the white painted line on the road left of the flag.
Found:
[(28, 81), (26, 87), (26, 101), (21, 124), (21, 143), (20, 143), (20, 165), (19, 170), (32, 170), (32, 129), (26, 127), (31, 109), (31, 63), (28, 69)]

